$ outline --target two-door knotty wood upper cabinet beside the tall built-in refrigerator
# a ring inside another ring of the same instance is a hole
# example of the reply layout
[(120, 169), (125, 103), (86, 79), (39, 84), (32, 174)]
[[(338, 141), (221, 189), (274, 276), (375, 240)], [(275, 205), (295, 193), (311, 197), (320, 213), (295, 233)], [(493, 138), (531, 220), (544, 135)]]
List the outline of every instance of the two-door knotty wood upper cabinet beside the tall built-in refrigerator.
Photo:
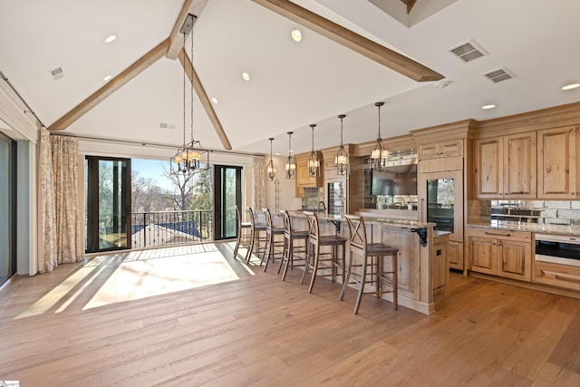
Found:
[(536, 198), (536, 132), (474, 141), (477, 198)]

